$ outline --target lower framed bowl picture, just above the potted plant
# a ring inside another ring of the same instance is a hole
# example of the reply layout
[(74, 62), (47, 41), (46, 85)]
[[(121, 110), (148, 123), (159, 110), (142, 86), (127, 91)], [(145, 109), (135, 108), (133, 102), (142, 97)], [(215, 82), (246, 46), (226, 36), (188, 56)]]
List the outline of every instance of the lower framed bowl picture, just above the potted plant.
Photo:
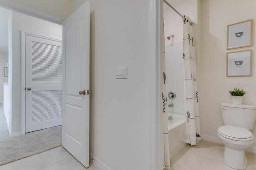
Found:
[(252, 50), (227, 53), (227, 77), (252, 76)]

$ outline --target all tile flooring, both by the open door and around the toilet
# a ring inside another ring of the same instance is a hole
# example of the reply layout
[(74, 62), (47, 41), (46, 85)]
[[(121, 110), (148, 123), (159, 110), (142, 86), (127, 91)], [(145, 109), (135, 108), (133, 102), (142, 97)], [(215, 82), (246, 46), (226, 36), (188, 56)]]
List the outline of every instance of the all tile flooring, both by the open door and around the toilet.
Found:
[[(171, 159), (171, 170), (234, 170), (224, 164), (224, 146), (200, 141), (187, 145)], [(256, 154), (246, 152), (246, 170), (256, 170)], [(85, 168), (63, 147), (58, 147), (28, 158), (0, 166), (0, 170), (99, 170), (93, 164)], [(135, 169), (134, 169), (135, 170)]]

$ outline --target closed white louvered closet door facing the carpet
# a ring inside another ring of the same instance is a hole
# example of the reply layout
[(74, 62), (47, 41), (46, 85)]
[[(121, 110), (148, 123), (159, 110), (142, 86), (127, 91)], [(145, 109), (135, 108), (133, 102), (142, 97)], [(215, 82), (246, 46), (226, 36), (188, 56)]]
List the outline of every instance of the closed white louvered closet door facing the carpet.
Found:
[(58, 125), (62, 125), (62, 42), (26, 35), (26, 133)]

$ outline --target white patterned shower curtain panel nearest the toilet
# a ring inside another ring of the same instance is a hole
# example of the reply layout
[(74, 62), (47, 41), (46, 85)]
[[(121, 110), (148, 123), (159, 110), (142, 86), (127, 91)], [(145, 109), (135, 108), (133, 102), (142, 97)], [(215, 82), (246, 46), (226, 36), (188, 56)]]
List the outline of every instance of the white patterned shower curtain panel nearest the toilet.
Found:
[(183, 17), (183, 59), (185, 76), (186, 143), (196, 145), (201, 140), (196, 80), (196, 53), (191, 20)]

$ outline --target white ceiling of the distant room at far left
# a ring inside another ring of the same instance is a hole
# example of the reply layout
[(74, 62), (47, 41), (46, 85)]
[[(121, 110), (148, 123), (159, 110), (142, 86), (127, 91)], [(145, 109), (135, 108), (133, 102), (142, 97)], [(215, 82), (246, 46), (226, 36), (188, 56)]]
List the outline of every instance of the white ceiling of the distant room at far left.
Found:
[(0, 7), (0, 53), (8, 54), (8, 20), (10, 10)]

